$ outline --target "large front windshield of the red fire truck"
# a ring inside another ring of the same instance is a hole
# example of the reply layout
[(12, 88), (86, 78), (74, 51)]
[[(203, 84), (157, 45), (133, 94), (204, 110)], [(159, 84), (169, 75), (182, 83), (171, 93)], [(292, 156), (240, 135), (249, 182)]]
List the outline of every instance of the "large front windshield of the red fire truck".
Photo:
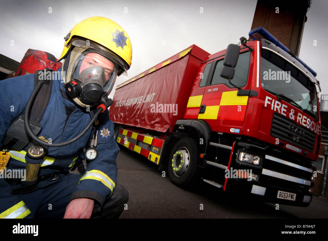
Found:
[(274, 52), (262, 49), (260, 73), (264, 90), (318, 117), (315, 84), (295, 66)]

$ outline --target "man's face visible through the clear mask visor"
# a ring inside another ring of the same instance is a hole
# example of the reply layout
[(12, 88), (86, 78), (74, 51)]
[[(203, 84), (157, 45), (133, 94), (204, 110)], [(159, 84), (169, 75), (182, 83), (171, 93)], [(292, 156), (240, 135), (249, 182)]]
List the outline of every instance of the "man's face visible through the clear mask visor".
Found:
[[(113, 73), (115, 65), (113, 62), (109, 61), (104, 56), (98, 54), (98, 53), (87, 53), (83, 59), (83, 62), (80, 67), (80, 73), (90, 67), (93, 66), (101, 66), (104, 68), (106, 80), (109, 80), (109, 77)], [(80, 74), (79, 73), (79, 74)]]

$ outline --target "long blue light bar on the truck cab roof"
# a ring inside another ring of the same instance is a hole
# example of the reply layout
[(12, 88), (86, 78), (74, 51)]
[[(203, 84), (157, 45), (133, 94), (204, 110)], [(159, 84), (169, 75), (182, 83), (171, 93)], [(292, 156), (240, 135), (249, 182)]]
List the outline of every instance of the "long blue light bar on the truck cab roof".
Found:
[(279, 42), (271, 33), (269, 33), (265, 28), (258, 27), (256, 29), (251, 30), (248, 35), (255, 40), (261, 40), (262, 38), (269, 40), (270, 42), (277, 45), (280, 49), (285, 50), (287, 53), (292, 55), (297, 61), (299, 61), (306, 69), (308, 69), (315, 77), (317, 76), (317, 72), (312, 70), (309, 66), (307, 66), (302, 60), (300, 60), (293, 52), (291, 52), (285, 45)]

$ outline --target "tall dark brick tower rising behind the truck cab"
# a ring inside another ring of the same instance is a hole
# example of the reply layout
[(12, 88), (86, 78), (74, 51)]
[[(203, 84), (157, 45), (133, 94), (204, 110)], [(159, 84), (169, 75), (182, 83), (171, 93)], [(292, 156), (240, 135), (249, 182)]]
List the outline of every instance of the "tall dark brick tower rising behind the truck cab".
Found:
[[(276, 13), (276, 8), (279, 13)], [(264, 27), (293, 53), (296, 53), (298, 38), (303, 26), (308, 0), (267, 1), (258, 0), (252, 29)]]

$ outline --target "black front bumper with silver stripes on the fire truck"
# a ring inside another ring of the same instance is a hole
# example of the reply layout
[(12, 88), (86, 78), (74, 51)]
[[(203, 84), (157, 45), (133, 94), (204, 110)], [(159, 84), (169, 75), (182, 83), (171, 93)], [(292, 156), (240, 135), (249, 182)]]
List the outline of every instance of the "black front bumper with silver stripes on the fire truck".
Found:
[[(262, 156), (261, 165), (255, 166), (236, 161), (238, 150), (257, 152)], [(291, 155), (283, 150), (256, 148), (254, 145), (250, 148), (245, 143), (237, 145), (234, 153), (235, 158), (231, 161), (231, 167), (250, 170), (258, 175), (258, 180), (228, 178), (229, 192), (234, 190), (233, 192), (249, 193), (263, 202), (309, 206), (312, 200), (312, 193), (309, 189), (313, 185), (311, 181), (313, 169), (310, 160)], [(296, 198), (295, 200), (277, 198), (278, 191), (294, 193)]]

